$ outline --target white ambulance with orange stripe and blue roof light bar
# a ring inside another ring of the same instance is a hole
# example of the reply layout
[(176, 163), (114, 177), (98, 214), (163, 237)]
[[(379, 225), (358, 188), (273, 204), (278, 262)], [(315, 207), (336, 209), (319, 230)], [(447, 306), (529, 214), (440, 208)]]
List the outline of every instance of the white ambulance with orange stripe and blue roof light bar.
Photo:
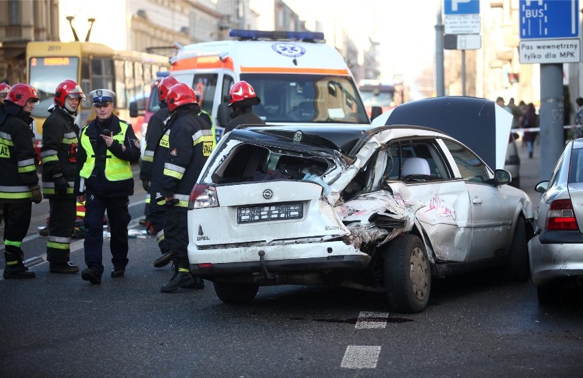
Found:
[(239, 80), (255, 89), (261, 103), (253, 112), (268, 124), (370, 123), (350, 68), (324, 34), (233, 29), (229, 36), (179, 47), (170, 59), (170, 75), (200, 92), (218, 136)]

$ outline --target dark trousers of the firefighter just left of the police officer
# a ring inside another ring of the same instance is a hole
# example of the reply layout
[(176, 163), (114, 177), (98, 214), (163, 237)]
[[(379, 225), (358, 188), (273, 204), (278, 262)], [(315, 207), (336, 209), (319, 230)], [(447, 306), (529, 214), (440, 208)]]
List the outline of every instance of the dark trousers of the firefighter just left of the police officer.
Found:
[(75, 229), (75, 198), (49, 199), (49, 240), (47, 260), (53, 264), (69, 261), (70, 243)]

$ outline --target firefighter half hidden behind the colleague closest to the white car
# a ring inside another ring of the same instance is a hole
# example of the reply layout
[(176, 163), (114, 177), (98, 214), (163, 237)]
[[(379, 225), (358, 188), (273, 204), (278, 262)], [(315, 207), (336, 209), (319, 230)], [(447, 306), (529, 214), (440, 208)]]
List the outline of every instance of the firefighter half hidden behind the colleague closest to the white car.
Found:
[(150, 222), (153, 234), (156, 236), (158, 248), (162, 254), (154, 261), (154, 266), (156, 268), (168, 265), (172, 260), (172, 253), (170, 243), (164, 236), (163, 207), (158, 206), (152, 201), (152, 199), (155, 199), (160, 195), (161, 184), (161, 177), (152, 177), (152, 168), (154, 154), (157, 151), (156, 153), (159, 154), (159, 159), (157, 161), (161, 164), (161, 169), (164, 169), (164, 160), (166, 158), (164, 154), (168, 152), (168, 136), (164, 136), (164, 138), (162, 138), (162, 136), (164, 134), (164, 127), (166, 127), (166, 121), (168, 121), (168, 117), (170, 117), (170, 110), (168, 110), (166, 96), (168, 96), (170, 88), (172, 88), (174, 84), (178, 84), (178, 82), (179, 81), (175, 77), (168, 76), (161, 79), (158, 84), (157, 91), (160, 109), (152, 115), (148, 122), (148, 130), (146, 131), (146, 148), (144, 149), (142, 168), (140, 169), (142, 186), (148, 193), (148, 197), (150, 197), (148, 221)]

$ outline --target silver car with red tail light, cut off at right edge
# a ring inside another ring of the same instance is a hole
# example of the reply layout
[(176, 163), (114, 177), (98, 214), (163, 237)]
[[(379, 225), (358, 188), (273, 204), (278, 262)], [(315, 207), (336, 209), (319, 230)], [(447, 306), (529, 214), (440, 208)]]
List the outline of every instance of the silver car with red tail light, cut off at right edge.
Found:
[(549, 181), (541, 181), (536, 235), (528, 242), (539, 303), (556, 303), (564, 288), (583, 288), (583, 139), (563, 149)]

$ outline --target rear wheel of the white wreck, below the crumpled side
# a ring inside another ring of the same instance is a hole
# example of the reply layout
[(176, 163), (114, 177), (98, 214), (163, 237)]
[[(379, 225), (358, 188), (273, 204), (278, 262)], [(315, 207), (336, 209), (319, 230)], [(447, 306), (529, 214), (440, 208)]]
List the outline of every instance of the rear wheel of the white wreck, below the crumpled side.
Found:
[(392, 240), (384, 255), (385, 288), (389, 305), (397, 312), (422, 312), (429, 301), (431, 272), (419, 237), (404, 234)]

